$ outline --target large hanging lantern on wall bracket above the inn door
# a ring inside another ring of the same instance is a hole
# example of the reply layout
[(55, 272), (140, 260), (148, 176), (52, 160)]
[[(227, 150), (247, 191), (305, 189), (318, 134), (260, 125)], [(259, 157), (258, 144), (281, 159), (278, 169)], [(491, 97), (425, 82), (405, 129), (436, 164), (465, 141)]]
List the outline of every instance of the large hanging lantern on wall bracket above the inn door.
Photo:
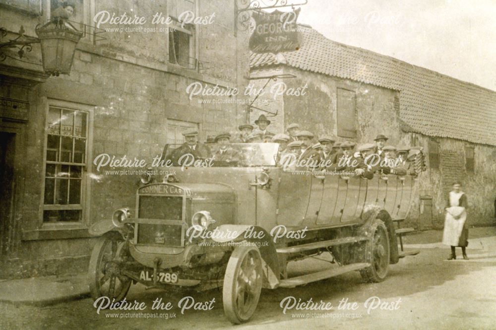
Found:
[(53, 17), (48, 23), (36, 28), (41, 43), (41, 56), (45, 72), (58, 76), (69, 74), (76, 45), (83, 33), (67, 19)]

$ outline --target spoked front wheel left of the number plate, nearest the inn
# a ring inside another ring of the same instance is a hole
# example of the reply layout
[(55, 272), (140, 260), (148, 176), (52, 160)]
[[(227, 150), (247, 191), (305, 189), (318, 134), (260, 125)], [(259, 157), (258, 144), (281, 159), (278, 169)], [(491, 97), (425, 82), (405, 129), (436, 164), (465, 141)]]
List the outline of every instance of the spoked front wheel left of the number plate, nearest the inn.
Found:
[(121, 274), (127, 257), (125, 244), (118, 234), (98, 239), (89, 264), (89, 287), (93, 299), (106, 296), (121, 301), (129, 291), (131, 279)]

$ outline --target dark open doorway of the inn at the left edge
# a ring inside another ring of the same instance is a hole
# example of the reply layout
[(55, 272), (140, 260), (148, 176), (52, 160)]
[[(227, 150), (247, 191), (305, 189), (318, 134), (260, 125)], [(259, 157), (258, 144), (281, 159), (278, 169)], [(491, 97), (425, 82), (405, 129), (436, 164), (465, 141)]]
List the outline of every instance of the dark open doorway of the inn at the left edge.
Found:
[(0, 256), (9, 251), (14, 213), (15, 133), (0, 132)]

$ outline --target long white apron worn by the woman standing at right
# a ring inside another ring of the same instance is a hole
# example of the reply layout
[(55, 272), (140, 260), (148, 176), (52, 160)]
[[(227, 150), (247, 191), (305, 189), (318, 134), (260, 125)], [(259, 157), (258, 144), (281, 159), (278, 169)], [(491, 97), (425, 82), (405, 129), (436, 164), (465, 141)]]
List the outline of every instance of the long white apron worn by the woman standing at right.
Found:
[[(463, 225), (467, 219), (467, 211), (465, 207), (458, 206), (458, 201), (463, 195), (460, 193), (449, 193), (449, 205), (446, 209), (444, 218), (444, 232), (442, 234), (442, 243), (450, 246), (458, 246), (458, 241), (463, 230)], [(455, 219), (459, 216), (458, 219)]]

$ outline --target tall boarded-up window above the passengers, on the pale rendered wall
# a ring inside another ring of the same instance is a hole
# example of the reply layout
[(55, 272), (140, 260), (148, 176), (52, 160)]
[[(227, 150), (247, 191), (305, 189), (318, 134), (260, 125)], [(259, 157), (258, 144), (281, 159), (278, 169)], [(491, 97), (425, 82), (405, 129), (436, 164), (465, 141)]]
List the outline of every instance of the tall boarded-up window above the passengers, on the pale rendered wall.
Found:
[(337, 131), (338, 136), (357, 137), (355, 92), (338, 88), (337, 91)]

